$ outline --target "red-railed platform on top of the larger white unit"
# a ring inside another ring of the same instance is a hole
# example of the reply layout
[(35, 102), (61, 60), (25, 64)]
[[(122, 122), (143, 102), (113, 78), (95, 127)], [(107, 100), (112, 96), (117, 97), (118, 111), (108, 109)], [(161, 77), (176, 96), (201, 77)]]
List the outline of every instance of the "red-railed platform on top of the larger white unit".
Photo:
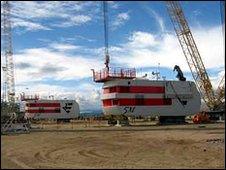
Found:
[(113, 79), (134, 79), (136, 78), (135, 68), (104, 68), (100, 71), (93, 71), (93, 81), (106, 82)]

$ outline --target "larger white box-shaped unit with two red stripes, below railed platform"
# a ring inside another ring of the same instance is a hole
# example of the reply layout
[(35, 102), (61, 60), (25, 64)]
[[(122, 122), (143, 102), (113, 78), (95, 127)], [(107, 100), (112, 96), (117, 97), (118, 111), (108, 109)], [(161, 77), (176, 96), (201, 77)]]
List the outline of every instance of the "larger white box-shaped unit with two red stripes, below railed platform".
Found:
[(194, 82), (114, 79), (104, 82), (104, 114), (187, 116), (200, 110)]

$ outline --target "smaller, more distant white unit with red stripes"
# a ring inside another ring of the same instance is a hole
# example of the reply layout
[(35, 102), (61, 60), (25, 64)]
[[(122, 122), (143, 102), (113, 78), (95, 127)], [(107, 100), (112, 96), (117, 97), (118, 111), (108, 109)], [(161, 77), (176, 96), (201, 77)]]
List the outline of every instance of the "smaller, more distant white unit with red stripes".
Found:
[(27, 100), (25, 117), (33, 119), (71, 119), (80, 115), (75, 100)]

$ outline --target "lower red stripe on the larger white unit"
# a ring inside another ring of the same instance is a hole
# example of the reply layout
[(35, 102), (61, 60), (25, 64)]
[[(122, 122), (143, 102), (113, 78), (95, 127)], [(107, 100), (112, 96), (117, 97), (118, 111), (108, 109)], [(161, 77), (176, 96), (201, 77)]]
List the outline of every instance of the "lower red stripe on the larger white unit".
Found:
[(161, 106), (172, 105), (172, 99), (105, 99), (102, 100), (103, 106)]

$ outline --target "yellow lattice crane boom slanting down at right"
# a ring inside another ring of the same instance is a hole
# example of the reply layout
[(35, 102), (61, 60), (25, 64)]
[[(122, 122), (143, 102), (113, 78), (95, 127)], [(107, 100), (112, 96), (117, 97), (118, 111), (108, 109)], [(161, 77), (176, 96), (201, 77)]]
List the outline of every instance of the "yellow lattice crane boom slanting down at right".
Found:
[(197, 88), (207, 106), (214, 110), (218, 104), (213, 87), (180, 3), (166, 1), (166, 6)]

